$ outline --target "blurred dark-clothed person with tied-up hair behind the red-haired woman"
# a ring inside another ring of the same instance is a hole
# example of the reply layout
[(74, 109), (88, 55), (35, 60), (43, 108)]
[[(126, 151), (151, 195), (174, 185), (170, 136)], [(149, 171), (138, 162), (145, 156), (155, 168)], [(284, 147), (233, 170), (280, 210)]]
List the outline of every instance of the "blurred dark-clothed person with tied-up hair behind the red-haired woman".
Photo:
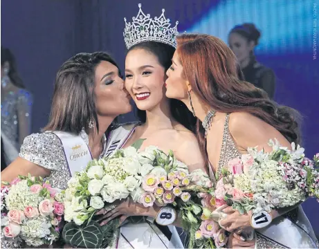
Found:
[(271, 68), (257, 62), (254, 49), (258, 45), (261, 33), (254, 24), (236, 25), (230, 30), (228, 44), (237, 56), (245, 80), (264, 89), (269, 98), (275, 94), (275, 73)]

